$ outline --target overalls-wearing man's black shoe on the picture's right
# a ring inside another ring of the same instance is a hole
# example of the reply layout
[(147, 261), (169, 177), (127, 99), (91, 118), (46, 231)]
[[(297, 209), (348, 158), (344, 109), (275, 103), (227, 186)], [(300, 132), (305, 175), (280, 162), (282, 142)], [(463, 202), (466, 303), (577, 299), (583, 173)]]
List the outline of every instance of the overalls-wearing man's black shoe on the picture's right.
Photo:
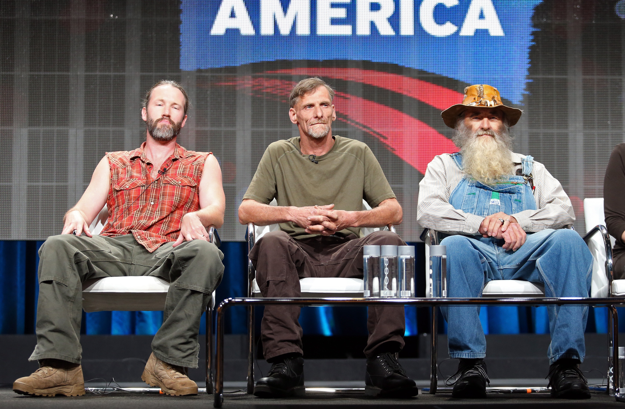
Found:
[(577, 360), (560, 359), (549, 366), (549, 385), (553, 398), (590, 399), (588, 380), (577, 367)]

